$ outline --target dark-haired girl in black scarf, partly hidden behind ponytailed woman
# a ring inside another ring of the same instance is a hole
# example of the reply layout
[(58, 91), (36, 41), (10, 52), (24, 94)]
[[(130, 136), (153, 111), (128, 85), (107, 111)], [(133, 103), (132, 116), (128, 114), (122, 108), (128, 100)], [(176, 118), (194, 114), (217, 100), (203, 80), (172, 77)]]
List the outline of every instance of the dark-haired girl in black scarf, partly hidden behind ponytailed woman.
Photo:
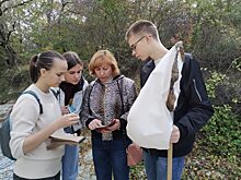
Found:
[[(82, 105), (84, 91), (88, 82), (82, 75), (83, 62), (73, 51), (68, 51), (62, 55), (68, 64), (67, 72), (64, 73), (65, 81), (61, 82), (58, 91), (58, 99), (64, 115), (74, 112), (79, 115)], [(77, 124), (65, 128), (67, 133), (80, 134), (82, 124)], [(66, 145), (65, 155), (62, 157), (62, 179), (76, 180), (78, 178), (79, 167), (79, 145)]]

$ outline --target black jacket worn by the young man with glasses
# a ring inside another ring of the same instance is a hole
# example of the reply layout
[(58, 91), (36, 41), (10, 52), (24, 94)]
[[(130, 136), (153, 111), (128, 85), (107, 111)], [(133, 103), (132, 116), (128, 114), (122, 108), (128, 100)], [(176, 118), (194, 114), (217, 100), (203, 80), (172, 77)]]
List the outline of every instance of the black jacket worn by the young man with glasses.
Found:
[[(148, 60), (140, 71), (140, 84), (145, 85), (153, 70), (153, 61)], [(182, 77), (180, 81), (180, 96), (174, 110), (174, 124), (179, 128), (181, 136), (173, 144), (173, 157), (187, 155), (195, 140), (195, 133), (203, 128), (214, 115), (214, 109), (208, 100), (204, 79), (198, 62), (185, 53)], [(144, 148), (152, 155), (167, 157), (168, 151)]]

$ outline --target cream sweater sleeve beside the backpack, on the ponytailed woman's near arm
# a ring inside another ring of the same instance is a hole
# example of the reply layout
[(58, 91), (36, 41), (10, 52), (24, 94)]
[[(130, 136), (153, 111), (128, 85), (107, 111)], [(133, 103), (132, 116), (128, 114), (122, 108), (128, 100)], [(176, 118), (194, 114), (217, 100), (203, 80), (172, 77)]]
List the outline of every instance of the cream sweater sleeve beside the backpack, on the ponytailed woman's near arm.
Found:
[(39, 117), (39, 105), (32, 95), (21, 95), (10, 115), (12, 130), (10, 132), (10, 149), (14, 158), (24, 156), (23, 142), (34, 133)]

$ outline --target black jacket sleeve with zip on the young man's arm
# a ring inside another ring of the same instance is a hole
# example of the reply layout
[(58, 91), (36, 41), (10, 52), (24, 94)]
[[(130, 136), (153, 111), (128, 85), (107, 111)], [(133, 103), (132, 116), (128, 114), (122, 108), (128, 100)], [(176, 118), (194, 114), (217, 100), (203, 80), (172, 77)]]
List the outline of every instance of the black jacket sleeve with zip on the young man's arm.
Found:
[(184, 91), (182, 92), (184, 96), (179, 99), (180, 103), (186, 103), (186, 113), (175, 123), (180, 129), (181, 139), (194, 135), (214, 115), (199, 64), (191, 59), (187, 67), (183, 70), (183, 80), (181, 80), (184, 84), (181, 89), (181, 92)]

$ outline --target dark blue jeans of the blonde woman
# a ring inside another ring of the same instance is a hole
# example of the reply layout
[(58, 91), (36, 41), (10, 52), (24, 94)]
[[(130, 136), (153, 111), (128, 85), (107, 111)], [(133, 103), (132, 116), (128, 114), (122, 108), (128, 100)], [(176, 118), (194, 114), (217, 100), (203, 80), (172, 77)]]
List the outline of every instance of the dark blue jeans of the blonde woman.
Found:
[(97, 180), (128, 180), (129, 167), (127, 166), (126, 146), (124, 139), (102, 141), (92, 136), (92, 154), (94, 170)]

